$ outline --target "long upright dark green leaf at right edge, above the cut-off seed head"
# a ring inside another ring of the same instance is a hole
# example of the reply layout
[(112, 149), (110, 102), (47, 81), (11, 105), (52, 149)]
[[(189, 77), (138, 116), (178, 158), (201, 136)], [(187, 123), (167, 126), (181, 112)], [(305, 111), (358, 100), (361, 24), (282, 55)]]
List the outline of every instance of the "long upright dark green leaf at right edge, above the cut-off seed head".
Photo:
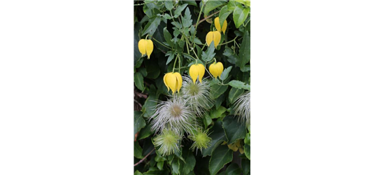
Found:
[(241, 57), (241, 59), (238, 59), (239, 61), (236, 62), (236, 64), (239, 65), (241, 71), (248, 71), (247, 67), (250, 69), (250, 66), (246, 66), (250, 61), (250, 36), (248, 31), (246, 31), (243, 36), (243, 42), (241, 43), (239, 50), (239, 57)]

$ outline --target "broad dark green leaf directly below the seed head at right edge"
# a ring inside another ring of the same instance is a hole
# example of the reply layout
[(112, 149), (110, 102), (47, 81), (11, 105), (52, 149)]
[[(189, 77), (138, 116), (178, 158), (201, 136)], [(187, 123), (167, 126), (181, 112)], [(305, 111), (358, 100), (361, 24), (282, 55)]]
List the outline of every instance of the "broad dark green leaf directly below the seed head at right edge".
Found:
[(246, 125), (239, 123), (239, 119), (235, 116), (227, 116), (222, 120), (222, 127), (225, 136), (228, 138), (228, 144), (234, 144), (239, 139), (244, 139), (247, 134)]

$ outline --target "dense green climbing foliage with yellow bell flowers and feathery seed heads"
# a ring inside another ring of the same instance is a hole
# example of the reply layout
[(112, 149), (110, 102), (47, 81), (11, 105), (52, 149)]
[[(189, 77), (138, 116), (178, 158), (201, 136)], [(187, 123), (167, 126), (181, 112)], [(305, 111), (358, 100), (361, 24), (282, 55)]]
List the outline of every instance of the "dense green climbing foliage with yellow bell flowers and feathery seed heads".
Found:
[(250, 174), (248, 13), (134, 0), (134, 174)]

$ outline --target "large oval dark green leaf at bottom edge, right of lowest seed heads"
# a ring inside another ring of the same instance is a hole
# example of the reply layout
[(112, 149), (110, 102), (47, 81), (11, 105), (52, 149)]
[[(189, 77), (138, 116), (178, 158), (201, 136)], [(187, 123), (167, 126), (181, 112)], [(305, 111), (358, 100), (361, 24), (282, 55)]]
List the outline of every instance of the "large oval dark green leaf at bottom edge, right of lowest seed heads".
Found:
[(218, 174), (227, 163), (233, 159), (233, 151), (226, 145), (219, 146), (212, 153), (211, 160), (209, 161), (209, 172), (211, 174)]

